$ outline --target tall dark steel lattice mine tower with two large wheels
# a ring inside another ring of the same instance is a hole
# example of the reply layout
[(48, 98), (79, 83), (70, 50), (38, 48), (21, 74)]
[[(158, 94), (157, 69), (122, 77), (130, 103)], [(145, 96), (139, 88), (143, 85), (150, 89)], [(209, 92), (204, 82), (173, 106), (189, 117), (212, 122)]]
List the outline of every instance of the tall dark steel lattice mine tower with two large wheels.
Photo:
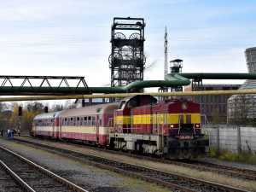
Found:
[(112, 87), (143, 80), (145, 26), (143, 18), (113, 18), (112, 51), (108, 57)]

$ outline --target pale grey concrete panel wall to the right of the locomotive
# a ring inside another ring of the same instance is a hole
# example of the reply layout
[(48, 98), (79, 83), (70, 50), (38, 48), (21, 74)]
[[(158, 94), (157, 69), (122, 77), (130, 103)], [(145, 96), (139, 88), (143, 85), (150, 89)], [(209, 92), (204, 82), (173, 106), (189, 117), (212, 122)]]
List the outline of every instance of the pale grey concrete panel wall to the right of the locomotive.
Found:
[(256, 152), (256, 127), (218, 125), (210, 128), (211, 147)]

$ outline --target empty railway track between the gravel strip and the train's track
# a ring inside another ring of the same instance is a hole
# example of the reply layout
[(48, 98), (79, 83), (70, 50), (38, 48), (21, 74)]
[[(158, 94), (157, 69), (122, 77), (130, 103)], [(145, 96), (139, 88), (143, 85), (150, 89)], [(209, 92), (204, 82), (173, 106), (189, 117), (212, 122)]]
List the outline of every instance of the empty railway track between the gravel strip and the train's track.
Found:
[[(18, 142), (17, 139), (15, 141)], [(178, 191), (246, 191), (236, 189), (218, 183), (211, 183), (196, 179), (193, 177), (185, 177), (172, 172), (164, 172), (145, 166), (137, 166), (129, 163), (110, 160), (91, 154), (82, 154), (77, 151), (64, 148), (56, 148), (42, 143), (34, 143), (31, 141), (20, 140), (20, 143), (27, 143), (32, 147), (47, 150), (54, 154), (60, 154), (67, 158), (84, 162), (85, 164), (96, 166), (102, 169), (108, 169), (112, 172), (118, 172), (129, 177), (137, 177), (150, 183), (157, 183), (166, 188)]]

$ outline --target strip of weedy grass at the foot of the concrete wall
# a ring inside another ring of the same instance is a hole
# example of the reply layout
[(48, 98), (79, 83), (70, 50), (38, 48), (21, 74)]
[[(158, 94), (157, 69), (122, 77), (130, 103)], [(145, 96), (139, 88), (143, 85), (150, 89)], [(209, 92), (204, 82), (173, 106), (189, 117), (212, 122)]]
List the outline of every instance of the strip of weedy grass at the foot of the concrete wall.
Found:
[(219, 160), (256, 165), (256, 152), (241, 150), (238, 154), (234, 154), (229, 150), (222, 148), (211, 148), (210, 151), (211, 152), (207, 154), (209, 157), (218, 158)]

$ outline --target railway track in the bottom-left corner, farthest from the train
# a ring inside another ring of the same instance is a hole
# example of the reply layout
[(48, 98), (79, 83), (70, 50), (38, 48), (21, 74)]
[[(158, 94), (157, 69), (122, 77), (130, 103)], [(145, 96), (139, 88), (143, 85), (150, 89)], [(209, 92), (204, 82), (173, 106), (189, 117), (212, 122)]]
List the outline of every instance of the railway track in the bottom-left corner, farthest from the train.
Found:
[(3, 191), (87, 191), (1, 146), (0, 162), (7, 183)]

